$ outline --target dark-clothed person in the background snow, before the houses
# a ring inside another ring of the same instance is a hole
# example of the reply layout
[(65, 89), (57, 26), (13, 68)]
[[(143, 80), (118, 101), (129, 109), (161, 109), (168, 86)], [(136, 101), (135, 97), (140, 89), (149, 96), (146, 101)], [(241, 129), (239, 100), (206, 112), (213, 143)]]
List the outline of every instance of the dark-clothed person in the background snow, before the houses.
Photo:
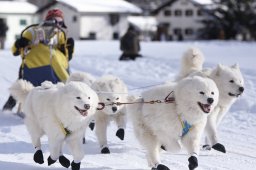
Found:
[(123, 54), (120, 56), (119, 60), (135, 60), (137, 57), (142, 57), (139, 54), (139, 35), (133, 26), (129, 26), (127, 32), (121, 38), (120, 49), (123, 51)]

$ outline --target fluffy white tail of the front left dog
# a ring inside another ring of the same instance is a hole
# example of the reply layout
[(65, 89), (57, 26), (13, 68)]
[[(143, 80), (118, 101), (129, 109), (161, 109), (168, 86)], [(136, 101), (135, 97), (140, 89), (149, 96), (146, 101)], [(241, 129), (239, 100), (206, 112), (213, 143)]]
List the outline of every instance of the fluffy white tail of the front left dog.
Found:
[(16, 81), (10, 88), (11, 95), (21, 103), (24, 103), (28, 93), (34, 88), (34, 86), (26, 80)]

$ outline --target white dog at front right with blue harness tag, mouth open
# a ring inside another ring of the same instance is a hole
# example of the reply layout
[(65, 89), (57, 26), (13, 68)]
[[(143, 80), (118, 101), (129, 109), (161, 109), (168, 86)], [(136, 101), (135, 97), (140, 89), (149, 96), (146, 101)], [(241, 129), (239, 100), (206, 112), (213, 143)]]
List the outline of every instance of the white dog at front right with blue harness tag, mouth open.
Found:
[[(174, 103), (148, 104), (166, 98), (170, 92), (173, 92)], [(189, 169), (196, 168), (207, 116), (218, 103), (219, 91), (214, 81), (200, 76), (188, 77), (177, 84), (145, 91), (141, 97), (134, 100), (139, 104), (127, 107), (127, 112), (135, 136), (146, 149), (148, 165), (154, 170), (169, 170), (160, 163), (160, 149), (177, 152), (185, 147), (190, 154)]]

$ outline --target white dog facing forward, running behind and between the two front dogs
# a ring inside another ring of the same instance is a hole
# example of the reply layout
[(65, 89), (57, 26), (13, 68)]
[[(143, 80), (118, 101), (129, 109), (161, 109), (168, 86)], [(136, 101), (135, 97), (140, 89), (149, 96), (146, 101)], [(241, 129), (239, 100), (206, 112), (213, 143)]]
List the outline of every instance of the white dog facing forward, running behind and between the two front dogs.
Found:
[(126, 127), (126, 106), (118, 102), (127, 102), (128, 90), (125, 83), (113, 75), (105, 75), (97, 79), (92, 88), (97, 92), (99, 100), (104, 103), (102, 110), (94, 115), (95, 133), (101, 147), (101, 153), (110, 153), (107, 145), (107, 126), (111, 120), (117, 124), (116, 136), (124, 139)]

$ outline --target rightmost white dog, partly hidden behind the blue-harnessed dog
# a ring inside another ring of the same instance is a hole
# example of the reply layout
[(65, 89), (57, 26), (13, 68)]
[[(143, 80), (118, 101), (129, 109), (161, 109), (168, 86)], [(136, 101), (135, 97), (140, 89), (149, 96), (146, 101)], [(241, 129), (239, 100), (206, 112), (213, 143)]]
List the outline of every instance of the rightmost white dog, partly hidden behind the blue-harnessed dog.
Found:
[[(244, 79), (242, 73), (238, 64), (234, 64), (232, 66), (218, 64), (214, 69), (202, 69), (204, 60), (202, 59), (201, 55), (195, 55), (193, 58), (191, 58), (191, 50), (188, 50), (187, 54), (188, 55), (184, 55), (182, 58), (181, 71), (178, 76), (179, 79), (193, 75), (207, 76), (216, 83), (220, 92), (219, 103), (217, 107), (215, 107), (213, 113), (208, 116), (208, 121), (205, 128), (207, 138), (206, 144), (203, 147), (204, 149), (209, 150), (213, 148), (217, 151), (225, 153), (226, 149), (218, 139), (217, 127), (232, 104), (244, 92)], [(198, 64), (193, 65), (193, 63)], [(184, 71), (187, 71), (186, 75), (181, 74)]]

